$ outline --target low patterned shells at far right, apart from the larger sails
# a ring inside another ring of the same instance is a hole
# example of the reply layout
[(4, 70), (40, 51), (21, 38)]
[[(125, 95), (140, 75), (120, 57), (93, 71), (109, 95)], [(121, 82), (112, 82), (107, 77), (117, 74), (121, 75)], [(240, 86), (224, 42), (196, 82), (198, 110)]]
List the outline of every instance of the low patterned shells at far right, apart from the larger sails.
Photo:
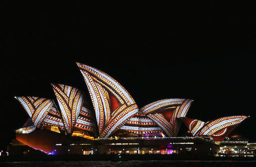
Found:
[(226, 116), (209, 122), (182, 118), (193, 136), (212, 136), (215, 141), (222, 141), (238, 124), (248, 116)]

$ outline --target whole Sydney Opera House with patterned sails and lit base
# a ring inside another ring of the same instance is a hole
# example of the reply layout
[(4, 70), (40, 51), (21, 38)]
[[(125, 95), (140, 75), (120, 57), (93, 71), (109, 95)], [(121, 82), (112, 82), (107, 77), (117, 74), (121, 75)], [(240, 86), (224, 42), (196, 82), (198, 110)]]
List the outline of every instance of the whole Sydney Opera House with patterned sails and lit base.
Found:
[[(30, 118), (16, 130), (8, 154), (217, 156), (234, 150), (241, 153), (248, 147), (255, 149), (255, 144), (238, 135), (233, 140), (230, 136), (248, 116), (207, 122), (187, 118), (193, 100), (185, 98), (162, 99), (139, 109), (128, 91), (108, 74), (85, 64), (77, 66), (89, 95), (72, 86), (52, 83), (55, 99), (15, 97)], [(178, 136), (181, 124), (188, 131)]]

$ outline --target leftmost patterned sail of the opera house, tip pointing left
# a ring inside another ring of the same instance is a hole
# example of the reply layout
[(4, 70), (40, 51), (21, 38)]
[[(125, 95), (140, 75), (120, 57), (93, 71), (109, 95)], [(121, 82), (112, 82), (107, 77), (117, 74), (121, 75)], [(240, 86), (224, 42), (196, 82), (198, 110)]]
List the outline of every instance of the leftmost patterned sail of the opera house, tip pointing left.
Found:
[(43, 124), (64, 130), (63, 121), (52, 100), (34, 96), (15, 97), (31, 117), (35, 127)]

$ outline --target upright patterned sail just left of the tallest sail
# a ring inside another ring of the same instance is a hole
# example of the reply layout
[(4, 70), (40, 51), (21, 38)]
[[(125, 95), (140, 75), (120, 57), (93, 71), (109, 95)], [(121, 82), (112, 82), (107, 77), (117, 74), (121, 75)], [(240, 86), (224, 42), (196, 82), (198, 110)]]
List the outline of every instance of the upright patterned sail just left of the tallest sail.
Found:
[(63, 84), (52, 84), (52, 88), (60, 106), (66, 132), (72, 134), (83, 105), (83, 94), (77, 88)]

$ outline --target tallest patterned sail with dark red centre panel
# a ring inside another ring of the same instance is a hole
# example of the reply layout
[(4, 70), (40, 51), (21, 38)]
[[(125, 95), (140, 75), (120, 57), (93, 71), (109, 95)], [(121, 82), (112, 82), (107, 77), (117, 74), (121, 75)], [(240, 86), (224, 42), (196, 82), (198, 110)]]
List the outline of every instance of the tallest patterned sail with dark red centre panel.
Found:
[(123, 86), (106, 73), (81, 63), (77, 66), (91, 96), (99, 136), (109, 137), (138, 112), (138, 106)]

